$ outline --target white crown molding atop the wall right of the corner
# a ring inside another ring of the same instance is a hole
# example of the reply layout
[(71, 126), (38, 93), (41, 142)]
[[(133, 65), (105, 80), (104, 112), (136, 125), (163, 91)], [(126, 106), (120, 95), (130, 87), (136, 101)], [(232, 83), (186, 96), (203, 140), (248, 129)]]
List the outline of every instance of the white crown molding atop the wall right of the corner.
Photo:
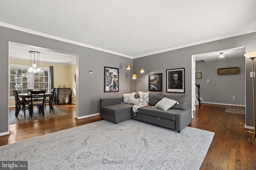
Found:
[(159, 53), (164, 53), (164, 52), (172, 51), (172, 50), (176, 50), (176, 49), (182, 49), (182, 48), (190, 47), (190, 46), (193, 46), (193, 45), (209, 43), (211, 41), (217, 41), (217, 40), (220, 40), (220, 39), (235, 37), (235, 36), (238, 36), (238, 35), (244, 35), (244, 34), (253, 33), (253, 32), (256, 32), (256, 28), (249, 29), (249, 30), (246, 30), (246, 31), (241, 31), (241, 32), (238, 32), (238, 33), (233, 33), (233, 34), (230, 34), (230, 35), (225, 35), (225, 36), (215, 37), (215, 38), (211, 38), (211, 39), (206, 39), (206, 40), (203, 40), (203, 41), (197, 41), (197, 42), (194, 42), (194, 43), (189, 43), (189, 44), (185, 44), (185, 45), (181, 45), (181, 46), (177, 46), (177, 47), (172, 47), (172, 48), (169, 48), (169, 49), (163, 49), (163, 50), (155, 51), (155, 52), (152, 52), (152, 53), (146, 53), (146, 54), (143, 54), (143, 55), (138, 55), (138, 56), (133, 57), (133, 59), (140, 58), (140, 57), (145, 57), (145, 56), (149, 56), (149, 55), (154, 55), (154, 54), (159, 54)]

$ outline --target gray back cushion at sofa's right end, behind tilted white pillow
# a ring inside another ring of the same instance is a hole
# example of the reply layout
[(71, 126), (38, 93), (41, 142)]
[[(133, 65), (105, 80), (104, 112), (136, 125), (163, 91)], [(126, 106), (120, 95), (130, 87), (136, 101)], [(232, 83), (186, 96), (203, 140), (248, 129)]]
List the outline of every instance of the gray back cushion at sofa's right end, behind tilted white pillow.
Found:
[(188, 109), (188, 95), (169, 95), (166, 94), (164, 97), (176, 100), (179, 104), (175, 104), (172, 106), (173, 109), (182, 109), (182, 110), (187, 110)]

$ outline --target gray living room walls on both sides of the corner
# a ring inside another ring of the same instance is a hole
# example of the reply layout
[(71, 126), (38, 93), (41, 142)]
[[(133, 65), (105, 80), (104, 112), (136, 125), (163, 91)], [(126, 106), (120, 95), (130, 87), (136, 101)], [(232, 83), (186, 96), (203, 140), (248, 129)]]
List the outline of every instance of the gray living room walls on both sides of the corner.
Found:
[[(246, 53), (256, 51), (256, 33), (250, 33), (212, 41), (183, 49), (177, 49), (141, 57), (138, 59), (128, 59), (117, 55), (73, 45), (62, 41), (32, 35), (0, 27), (0, 71), (1, 71), (1, 89), (0, 89), (0, 135), (8, 132), (8, 42), (16, 42), (57, 51), (65, 51), (79, 55), (77, 77), (77, 92), (79, 97), (76, 100), (78, 117), (90, 115), (99, 112), (99, 99), (106, 97), (122, 96), (123, 93), (129, 93), (132, 90), (132, 73), (126, 70), (126, 64), (131, 64), (134, 70), (140, 67), (145, 68), (143, 74), (138, 73), (135, 91), (148, 91), (148, 74), (163, 73), (163, 92), (166, 93), (166, 69), (185, 68), (185, 93), (188, 94), (188, 107), (191, 108), (191, 56), (223, 49), (236, 47), (246, 47)], [(134, 63), (134, 64), (132, 64)], [(249, 78), (252, 61), (246, 59), (246, 125), (253, 127), (253, 108), (252, 108), (252, 79)], [(119, 92), (104, 93), (104, 66), (120, 68)], [(94, 74), (88, 74), (88, 69), (94, 70)]]

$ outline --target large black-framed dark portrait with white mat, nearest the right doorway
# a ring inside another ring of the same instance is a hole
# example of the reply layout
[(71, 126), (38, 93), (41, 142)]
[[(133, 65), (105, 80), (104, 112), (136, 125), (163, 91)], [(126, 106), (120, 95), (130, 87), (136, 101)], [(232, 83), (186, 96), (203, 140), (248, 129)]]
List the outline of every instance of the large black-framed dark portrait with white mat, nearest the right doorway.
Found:
[(166, 70), (166, 92), (185, 93), (185, 68)]

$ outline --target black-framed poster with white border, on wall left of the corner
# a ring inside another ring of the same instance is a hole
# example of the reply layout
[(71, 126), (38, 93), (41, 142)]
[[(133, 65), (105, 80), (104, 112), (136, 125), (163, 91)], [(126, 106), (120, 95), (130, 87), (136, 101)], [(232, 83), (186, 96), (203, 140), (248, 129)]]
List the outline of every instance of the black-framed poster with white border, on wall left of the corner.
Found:
[(119, 68), (104, 66), (104, 92), (119, 92)]

